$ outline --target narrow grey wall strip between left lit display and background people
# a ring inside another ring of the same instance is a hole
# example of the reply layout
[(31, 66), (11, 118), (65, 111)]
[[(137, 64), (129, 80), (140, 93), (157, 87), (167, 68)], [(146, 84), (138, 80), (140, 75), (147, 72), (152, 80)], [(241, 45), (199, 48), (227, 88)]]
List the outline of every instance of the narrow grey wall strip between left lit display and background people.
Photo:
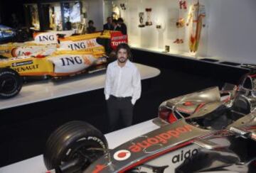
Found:
[(103, 0), (86, 0), (87, 22), (94, 21), (96, 30), (103, 29)]

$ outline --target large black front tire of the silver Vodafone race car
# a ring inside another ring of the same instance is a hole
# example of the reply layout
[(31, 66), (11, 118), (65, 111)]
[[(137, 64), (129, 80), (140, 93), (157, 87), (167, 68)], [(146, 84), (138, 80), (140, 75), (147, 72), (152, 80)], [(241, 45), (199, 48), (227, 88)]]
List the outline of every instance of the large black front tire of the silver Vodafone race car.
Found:
[(70, 121), (50, 135), (46, 142), (43, 161), (48, 170), (55, 169), (56, 172), (60, 172), (61, 164), (86, 157), (86, 162), (76, 165), (82, 171), (105, 153), (103, 150), (88, 150), (92, 147), (108, 148), (107, 140), (100, 130), (89, 123)]

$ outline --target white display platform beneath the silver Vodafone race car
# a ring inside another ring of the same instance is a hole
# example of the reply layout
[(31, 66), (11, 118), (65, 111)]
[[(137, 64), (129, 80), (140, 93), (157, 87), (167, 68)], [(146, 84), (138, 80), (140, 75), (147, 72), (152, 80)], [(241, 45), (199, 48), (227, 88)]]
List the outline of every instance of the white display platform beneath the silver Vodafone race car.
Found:
[[(132, 140), (138, 135), (143, 135), (144, 133), (148, 133), (156, 128), (159, 127), (150, 120), (137, 125), (132, 125), (129, 128), (107, 133), (105, 137), (107, 138), (107, 143), (109, 144), (110, 149), (112, 149), (128, 140)], [(43, 164), (43, 155), (38, 155), (28, 160), (23, 160), (21, 162), (10, 164), (6, 167), (1, 167), (0, 173), (43, 173), (46, 172), (46, 170), (47, 169)]]

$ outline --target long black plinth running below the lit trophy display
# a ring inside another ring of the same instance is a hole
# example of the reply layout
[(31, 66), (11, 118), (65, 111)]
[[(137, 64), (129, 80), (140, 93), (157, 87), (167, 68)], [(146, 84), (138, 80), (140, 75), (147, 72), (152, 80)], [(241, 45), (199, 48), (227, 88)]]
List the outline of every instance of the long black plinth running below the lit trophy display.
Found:
[(134, 55), (134, 62), (143, 65), (159, 69), (171, 69), (176, 72), (220, 80), (224, 83), (240, 84), (240, 79), (250, 72), (250, 69), (242, 67), (240, 63), (225, 59), (214, 60), (210, 57), (196, 59), (186, 55), (175, 55), (142, 48), (132, 48), (132, 55)]

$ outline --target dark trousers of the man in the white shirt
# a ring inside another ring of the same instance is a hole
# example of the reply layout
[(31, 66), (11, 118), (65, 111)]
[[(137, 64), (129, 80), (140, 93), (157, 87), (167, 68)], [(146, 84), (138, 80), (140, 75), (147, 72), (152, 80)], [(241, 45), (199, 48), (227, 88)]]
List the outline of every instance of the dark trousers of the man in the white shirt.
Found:
[(116, 130), (119, 125), (119, 119), (121, 119), (124, 128), (132, 125), (133, 105), (132, 97), (117, 98), (110, 96), (107, 100), (107, 118), (108, 118), (108, 130), (112, 132)]

